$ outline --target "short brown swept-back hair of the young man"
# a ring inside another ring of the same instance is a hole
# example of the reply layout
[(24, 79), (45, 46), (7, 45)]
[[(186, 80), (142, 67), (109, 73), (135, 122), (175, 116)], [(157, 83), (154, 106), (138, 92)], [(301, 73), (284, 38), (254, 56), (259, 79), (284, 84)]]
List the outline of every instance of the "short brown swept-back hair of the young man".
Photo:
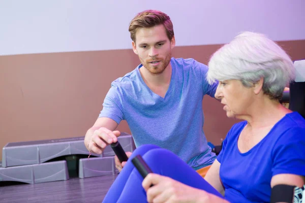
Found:
[(168, 15), (157, 10), (146, 10), (138, 13), (130, 22), (130, 37), (133, 42), (136, 42), (136, 31), (138, 28), (150, 28), (161, 24), (165, 27), (168, 39), (172, 40), (174, 37), (173, 23)]

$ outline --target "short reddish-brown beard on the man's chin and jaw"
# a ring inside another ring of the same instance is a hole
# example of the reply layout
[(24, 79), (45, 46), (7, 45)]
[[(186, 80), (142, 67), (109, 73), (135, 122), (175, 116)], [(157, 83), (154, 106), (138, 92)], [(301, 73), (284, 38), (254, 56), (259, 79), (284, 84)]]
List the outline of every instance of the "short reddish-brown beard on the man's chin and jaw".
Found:
[[(143, 64), (143, 66), (145, 67), (145, 69), (151, 74), (151, 75), (160, 75), (162, 74), (166, 67), (168, 66), (169, 62), (171, 59), (171, 52), (165, 57), (165, 59), (161, 59), (161, 58), (151, 58), (150, 60), (142, 60), (140, 58), (141, 63)], [(159, 61), (159, 64), (157, 66), (153, 66), (151, 65), (151, 61)]]

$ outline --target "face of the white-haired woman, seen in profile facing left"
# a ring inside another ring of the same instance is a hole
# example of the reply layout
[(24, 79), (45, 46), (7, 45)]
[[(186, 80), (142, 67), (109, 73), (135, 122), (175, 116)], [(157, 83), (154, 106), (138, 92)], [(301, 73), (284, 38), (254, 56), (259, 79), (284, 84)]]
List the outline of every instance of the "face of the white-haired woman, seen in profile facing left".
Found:
[(249, 114), (249, 109), (255, 102), (254, 89), (245, 87), (239, 80), (220, 81), (215, 93), (221, 99), (224, 110), (229, 118), (240, 118)]

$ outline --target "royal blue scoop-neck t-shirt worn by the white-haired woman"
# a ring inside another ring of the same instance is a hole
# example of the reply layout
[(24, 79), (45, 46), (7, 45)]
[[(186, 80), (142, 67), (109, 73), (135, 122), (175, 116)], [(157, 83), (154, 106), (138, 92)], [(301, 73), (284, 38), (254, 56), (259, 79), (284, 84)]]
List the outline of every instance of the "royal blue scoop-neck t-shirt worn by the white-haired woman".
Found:
[(233, 125), (217, 157), (225, 198), (230, 202), (270, 202), (272, 176), (305, 176), (305, 120), (297, 112), (285, 115), (257, 145), (240, 153), (237, 140), (246, 124)]

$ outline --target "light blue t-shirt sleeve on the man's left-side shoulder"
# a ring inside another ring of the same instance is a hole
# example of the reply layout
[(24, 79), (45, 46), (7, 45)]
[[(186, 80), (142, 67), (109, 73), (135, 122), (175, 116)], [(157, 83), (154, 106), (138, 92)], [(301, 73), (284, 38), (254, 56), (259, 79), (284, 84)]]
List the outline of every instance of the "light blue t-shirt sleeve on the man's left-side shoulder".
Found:
[(111, 88), (106, 94), (103, 103), (103, 109), (99, 117), (107, 117), (114, 120), (117, 124), (121, 120), (124, 120), (124, 111), (123, 111), (123, 96), (119, 91), (119, 88), (111, 85)]

